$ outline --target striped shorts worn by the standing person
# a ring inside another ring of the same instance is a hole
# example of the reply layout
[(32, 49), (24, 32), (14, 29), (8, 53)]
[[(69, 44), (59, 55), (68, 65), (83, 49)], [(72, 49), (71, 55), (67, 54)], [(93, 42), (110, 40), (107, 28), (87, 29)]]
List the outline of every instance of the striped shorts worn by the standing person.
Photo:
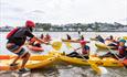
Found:
[[(8, 47), (8, 50), (10, 51), (10, 52), (12, 52), (12, 53), (14, 53), (14, 51), (17, 51), (17, 50), (19, 50), (20, 48), (20, 46), (19, 45), (12, 45), (12, 46), (10, 46), (10, 47)], [(21, 48), (21, 51), (19, 52), (19, 53), (14, 53), (14, 54), (17, 54), (18, 56), (22, 56), (23, 54), (25, 53), (25, 50), (24, 48)]]

